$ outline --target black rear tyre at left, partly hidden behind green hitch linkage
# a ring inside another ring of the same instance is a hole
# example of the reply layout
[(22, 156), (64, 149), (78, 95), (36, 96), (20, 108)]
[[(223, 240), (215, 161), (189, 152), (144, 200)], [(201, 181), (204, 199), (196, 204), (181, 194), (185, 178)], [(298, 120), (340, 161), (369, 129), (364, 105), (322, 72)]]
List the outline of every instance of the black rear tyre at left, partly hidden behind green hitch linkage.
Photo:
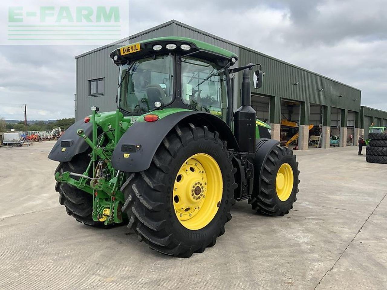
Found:
[[(76, 155), (69, 162), (60, 162), (55, 173), (65, 171), (83, 174), (90, 162), (87, 154)], [(79, 177), (72, 176), (74, 179)], [(95, 222), (92, 218), (92, 195), (67, 183), (57, 182), (55, 190), (59, 193), (59, 203), (64, 205), (68, 215), (77, 222), (94, 227), (105, 227), (103, 222)]]

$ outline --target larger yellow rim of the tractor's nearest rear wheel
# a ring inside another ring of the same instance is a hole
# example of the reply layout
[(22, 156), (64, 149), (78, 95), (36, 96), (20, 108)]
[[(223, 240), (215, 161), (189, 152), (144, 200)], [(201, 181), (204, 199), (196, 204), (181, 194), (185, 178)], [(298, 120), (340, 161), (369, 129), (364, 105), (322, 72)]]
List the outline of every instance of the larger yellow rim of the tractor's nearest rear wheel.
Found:
[(199, 153), (185, 160), (173, 185), (173, 207), (179, 222), (199, 230), (215, 217), (223, 194), (219, 165), (208, 154)]

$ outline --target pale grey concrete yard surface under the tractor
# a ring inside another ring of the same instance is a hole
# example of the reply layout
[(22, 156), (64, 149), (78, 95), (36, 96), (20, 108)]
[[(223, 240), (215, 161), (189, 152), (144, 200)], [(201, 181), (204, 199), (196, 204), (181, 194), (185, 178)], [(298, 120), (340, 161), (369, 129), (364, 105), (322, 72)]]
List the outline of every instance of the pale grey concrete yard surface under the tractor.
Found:
[(387, 289), (387, 165), (356, 147), (295, 151), (288, 215), (236, 203), (216, 245), (184, 259), (68, 216), (53, 144), (0, 148), (0, 289)]

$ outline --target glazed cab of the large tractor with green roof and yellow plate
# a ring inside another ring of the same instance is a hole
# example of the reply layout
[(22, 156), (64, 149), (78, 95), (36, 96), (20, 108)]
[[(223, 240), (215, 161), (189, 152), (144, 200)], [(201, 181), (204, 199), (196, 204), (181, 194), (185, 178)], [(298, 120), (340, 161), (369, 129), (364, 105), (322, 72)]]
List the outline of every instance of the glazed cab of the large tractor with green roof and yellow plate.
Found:
[(174, 107), (211, 113), (231, 125), (234, 53), (194, 39), (164, 37), (123, 46), (110, 57), (120, 66), (117, 104), (124, 115)]

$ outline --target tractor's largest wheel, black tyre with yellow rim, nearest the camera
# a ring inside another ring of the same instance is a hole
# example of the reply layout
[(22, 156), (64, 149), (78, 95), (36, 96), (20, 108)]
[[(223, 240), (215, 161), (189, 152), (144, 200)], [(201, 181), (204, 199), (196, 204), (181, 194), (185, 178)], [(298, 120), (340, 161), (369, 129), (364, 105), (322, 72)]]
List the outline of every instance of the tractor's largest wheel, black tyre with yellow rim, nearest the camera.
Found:
[[(190, 257), (214, 246), (224, 234), (235, 203), (232, 156), (226, 147), (227, 142), (205, 126), (176, 125), (159, 146), (149, 169), (129, 174), (122, 186), (128, 228), (152, 249), (172, 256)], [(210, 178), (211, 171), (212, 177), (220, 176), (221, 181)], [(212, 213), (206, 214), (207, 210)]]

